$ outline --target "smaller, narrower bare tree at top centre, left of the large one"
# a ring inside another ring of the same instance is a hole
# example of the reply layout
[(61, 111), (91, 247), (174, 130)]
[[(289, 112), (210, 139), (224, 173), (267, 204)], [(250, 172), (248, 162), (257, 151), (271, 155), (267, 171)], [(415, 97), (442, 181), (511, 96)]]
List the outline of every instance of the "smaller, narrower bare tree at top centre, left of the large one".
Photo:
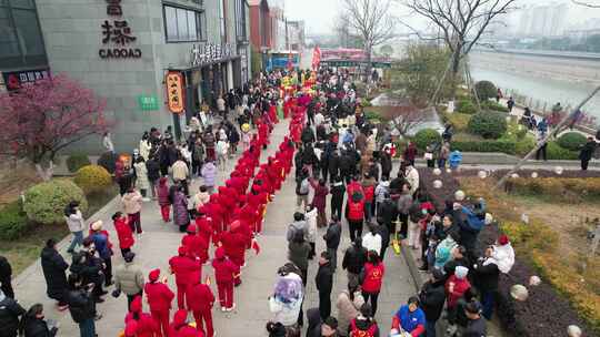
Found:
[(372, 52), (393, 37), (396, 19), (390, 14), (391, 0), (342, 0), (343, 14), (349, 28), (360, 38), (367, 54), (367, 73), (370, 81)]

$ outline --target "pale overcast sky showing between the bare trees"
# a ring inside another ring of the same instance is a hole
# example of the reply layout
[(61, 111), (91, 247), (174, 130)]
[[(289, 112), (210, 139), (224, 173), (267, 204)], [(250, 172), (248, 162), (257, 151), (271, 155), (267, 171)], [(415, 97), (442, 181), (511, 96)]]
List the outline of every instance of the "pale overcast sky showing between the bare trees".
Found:
[[(286, 16), (291, 20), (304, 20), (307, 33), (309, 34), (327, 34), (331, 33), (333, 23), (338, 12), (341, 9), (340, 0), (276, 0), (284, 1)], [(600, 1), (600, 0), (590, 0)], [(551, 2), (569, 2), (569, 0), (519, 0), (522, 4), (540, 4)], [(422, 20), (411, 16), (408, 10), (401, 6), (396, 6), (393, 13), (401, 20), (408, 21), (411, 25), (417, 25), (419, 29), (424, 28)], [(586, 9), (577, 6), (571, 6), (569, 9), (570, 22), (577, 22), (588, 18), (600, 18), (600, 9)], [(416, 27), (416, 28), (417, 28)]]

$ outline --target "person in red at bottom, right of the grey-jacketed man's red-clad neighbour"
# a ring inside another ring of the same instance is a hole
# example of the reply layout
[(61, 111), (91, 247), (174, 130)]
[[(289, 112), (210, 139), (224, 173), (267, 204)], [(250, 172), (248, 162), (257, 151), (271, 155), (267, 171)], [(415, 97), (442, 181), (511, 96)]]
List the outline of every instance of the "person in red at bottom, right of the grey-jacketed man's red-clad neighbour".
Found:
[[(214, 335), (212, 328), (212, 306), (214, 305), (214, 295), (207, 284), (197, 283), (188, 292), (188, 309), (193, 314), (196, 328), (206, 331), (208, 337)], [(203, 329), (203, 325), (207, 329)]]

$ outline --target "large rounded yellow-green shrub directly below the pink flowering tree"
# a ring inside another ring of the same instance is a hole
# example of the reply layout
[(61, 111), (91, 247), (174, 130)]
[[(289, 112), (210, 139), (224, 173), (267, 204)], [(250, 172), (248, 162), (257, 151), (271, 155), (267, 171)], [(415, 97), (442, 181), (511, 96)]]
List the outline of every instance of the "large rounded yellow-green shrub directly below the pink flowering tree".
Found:
[(78, 201), (81, 212), (88, 210), (83, 191), (70, 180), (57, 178), (29, 187), (24, 193), (23, 211), (27, 217), (40, 224), (56, 224), (63, 221), (64, 207)]

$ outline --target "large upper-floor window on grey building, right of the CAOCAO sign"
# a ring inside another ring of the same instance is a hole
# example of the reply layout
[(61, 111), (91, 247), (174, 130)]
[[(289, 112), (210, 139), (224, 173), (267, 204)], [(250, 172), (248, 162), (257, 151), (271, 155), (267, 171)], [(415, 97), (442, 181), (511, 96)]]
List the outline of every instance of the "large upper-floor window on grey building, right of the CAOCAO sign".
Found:
[(166, 4), (163, 14), (167, 42), (206, 40), (204, 12)]

